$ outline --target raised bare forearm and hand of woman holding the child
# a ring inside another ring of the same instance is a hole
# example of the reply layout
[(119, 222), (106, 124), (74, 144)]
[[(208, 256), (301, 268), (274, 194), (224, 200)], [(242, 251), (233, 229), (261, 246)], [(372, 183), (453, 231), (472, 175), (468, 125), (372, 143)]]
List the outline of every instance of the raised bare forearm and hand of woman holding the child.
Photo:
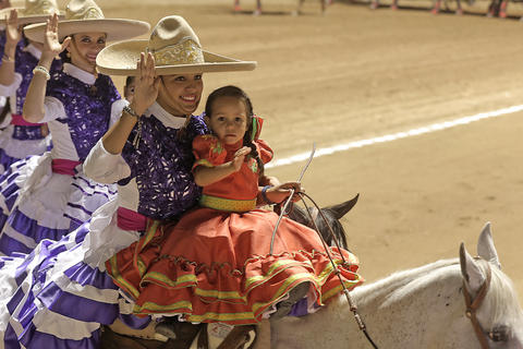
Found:
[(136, 68), (138, 75), (136, 76), (134, 99), (129, 107), (137, 117), (124, 109), (122, 117), (106, 132), (101, 140), (104, 147), (110, 154), (120, 154), (122, 152), (138, 118), (158, 97), (160, 79), (155, 74), (155, 58), (153, 55), (148, 53), (145, 56), (145, 53), (142, 52)]

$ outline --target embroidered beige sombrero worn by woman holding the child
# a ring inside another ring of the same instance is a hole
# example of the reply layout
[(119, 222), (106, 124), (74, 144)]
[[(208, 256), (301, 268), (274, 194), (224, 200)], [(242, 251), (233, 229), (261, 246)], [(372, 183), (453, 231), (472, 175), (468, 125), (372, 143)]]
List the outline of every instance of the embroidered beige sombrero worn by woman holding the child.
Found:
[(151, 52), (158, 75), (207, 72), (248, 71), (254, 61), (241, 61), (202, 49), (199, 39), (188, 23), (179, 15), (163, 17), (148, 40), (127, 40), (102, 49), (96, 65), (107, 75), (137, 75), (141, 52)]

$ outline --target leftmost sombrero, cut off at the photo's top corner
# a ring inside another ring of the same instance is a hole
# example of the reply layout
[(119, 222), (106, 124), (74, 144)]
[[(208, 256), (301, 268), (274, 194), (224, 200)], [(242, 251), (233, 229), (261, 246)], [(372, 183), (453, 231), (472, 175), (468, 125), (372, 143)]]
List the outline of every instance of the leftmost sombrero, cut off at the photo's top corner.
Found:
[(60, 19), (64, 14), (58, 9), (56, 0), (25, 0), (20, 5), (12, 3), (14, 7), (0, 10), (0, 23), (5, 23), (5, 17), (9, 17), (11, 10), (15, 9), (19, 12), (19, 24), (25, 25), (31, 23), (46, 22), (49, 15), (57, 13)]

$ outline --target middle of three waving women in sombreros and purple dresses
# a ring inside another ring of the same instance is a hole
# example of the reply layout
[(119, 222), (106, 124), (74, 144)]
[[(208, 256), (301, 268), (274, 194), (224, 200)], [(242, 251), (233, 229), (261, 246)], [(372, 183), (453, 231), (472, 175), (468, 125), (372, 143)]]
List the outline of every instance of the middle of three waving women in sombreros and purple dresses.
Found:
[[(24, 28), (42, 43), (33, 70), (23, 117), (47, 123), (52, 149), (13, 164), (0, 177), (0, 253), (28, 253), (44, 239), (60, 240), (87, 221), (115, 193), (113, 185), (86, 178), (83, 163), (96, 142), (120, 117), (125, 101), (111, 79), (97, 74), (96, 56), (107, 40), (145, 34), (141, 21), (105, 19), (92, 0), (71, 0), (65, 20)], [(63, 69), (50, 67), (62, 53)]]

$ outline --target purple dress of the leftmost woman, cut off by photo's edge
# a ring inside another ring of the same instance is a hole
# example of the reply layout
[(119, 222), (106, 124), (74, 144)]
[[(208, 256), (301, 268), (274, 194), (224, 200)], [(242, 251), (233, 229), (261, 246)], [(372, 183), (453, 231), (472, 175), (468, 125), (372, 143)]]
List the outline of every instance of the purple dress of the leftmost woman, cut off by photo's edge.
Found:
[[(5, 35), (0, 35), (0, 55), (3, 55)], [(10, 97), (10, 112), (2, 120), (0, 128), (0, 174), (12, 164), (32, 155), (41, 155), (50, 148), (50, 134), (44, 133), (42, 125), (28, 125), (21, 122), (25, 94), (33, 79), (33, 69), (37, 65), (41, 52), (33, 45), (21, 40), (15, 51), (15, 79), (10, 86), (0, 85), (0, 96)], [(60, 71), (60, 60), (53, 61), (51, 73)], [(44, 127), (45, 128), (45, 127)]]

